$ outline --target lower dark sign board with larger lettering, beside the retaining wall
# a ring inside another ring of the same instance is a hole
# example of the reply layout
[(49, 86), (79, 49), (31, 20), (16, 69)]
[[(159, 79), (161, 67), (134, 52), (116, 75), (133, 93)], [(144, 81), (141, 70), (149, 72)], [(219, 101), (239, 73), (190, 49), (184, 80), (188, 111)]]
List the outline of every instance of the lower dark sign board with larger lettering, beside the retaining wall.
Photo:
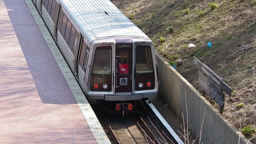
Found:
[(212, 84), (201, 71), (198, 70), (198, 85), (222, 108), (224, 109), (224, 93)]

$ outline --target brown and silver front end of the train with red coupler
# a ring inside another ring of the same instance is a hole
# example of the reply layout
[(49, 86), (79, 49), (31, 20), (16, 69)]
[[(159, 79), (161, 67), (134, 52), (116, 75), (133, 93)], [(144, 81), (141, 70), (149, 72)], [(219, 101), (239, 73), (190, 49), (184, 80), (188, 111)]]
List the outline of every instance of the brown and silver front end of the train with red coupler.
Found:
[(91, 104), (104, 104), (108, 111), (135, 111), (138, 100), (150, 103), (157, 97), (159, 80), (152, 41), (95, 41), (90, 57), (85, 93)]

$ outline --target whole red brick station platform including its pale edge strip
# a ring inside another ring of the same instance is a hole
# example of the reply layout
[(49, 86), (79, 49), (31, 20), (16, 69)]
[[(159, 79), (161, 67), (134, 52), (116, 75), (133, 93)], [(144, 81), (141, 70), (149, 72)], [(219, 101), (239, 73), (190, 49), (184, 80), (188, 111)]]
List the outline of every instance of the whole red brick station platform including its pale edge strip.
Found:
[(31, 0), (0, 0), (0, 143), (110, 143)]

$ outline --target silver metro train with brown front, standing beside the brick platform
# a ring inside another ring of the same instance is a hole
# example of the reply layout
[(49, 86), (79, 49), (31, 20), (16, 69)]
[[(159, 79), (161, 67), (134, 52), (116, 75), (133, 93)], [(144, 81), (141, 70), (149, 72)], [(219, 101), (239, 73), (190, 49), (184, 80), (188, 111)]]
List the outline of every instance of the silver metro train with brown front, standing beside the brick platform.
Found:
[(32, 0), (90, 104), (157, 97), (153, 42), (110, 0)]

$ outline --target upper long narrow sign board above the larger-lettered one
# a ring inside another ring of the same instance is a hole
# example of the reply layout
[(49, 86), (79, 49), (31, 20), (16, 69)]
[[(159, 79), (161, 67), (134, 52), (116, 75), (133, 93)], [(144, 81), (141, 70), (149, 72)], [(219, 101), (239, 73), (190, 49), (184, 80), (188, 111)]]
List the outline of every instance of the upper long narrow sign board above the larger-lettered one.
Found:
[(201, 63), (195, 57), (194, 57), (194, 63), (195, 63), (195, 66), (197, 66), (197, 68), (199, 70), (201, 70), (202, 73), (204, 73), (206, 75), (206, 77), (208, 77), (212, 82), (214, 82), (214, 84), (219, 86), (219, 88), (222, 89), (225, 93), (227, 93), (229, 96), (231, 96), (231, 88), (227, 84), (225, 84), (225, 82), (222, 81), (222, 78), (220, 78), (219, 75), (214, 73), (214, 71), (212, 71), (205, 64)]

